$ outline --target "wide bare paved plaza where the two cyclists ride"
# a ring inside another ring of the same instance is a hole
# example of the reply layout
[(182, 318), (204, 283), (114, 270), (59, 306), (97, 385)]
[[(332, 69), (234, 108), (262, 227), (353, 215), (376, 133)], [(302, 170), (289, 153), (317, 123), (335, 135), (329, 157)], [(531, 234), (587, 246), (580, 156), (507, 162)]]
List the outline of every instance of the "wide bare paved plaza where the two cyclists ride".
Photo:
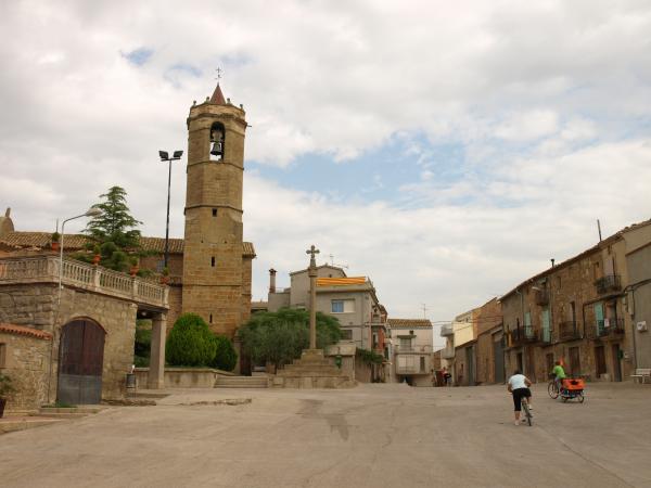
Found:
[(651, 487), (651, 385), (534, 395), (527, 427), (503, 386), (173, 390), (1, 435), (0, 486)]

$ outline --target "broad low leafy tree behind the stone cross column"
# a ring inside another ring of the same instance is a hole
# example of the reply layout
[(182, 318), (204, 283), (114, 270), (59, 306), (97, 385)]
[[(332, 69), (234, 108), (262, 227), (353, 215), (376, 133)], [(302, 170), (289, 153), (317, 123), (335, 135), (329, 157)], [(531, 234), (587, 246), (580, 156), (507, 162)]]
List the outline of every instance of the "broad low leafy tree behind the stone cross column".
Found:
[[(309, 312), (282, 308), (277, 312), (256, 313), (240, 328), (242, 350), (256, 362), (280, 367), (301, 357), (309, 347)], [(342, 337), (339, 320), (317, 312), (317, 347), (324, 348)]]

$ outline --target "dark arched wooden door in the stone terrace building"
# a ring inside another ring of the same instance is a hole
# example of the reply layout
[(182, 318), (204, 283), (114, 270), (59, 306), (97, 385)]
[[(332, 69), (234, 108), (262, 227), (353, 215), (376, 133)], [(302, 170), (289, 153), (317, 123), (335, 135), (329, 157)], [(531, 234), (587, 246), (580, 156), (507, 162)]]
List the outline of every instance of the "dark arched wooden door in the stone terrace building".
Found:
[(72, 404), (102, 399), (104, 329), (90, 319), (76, 319), (61, 330), (56, 399)]

